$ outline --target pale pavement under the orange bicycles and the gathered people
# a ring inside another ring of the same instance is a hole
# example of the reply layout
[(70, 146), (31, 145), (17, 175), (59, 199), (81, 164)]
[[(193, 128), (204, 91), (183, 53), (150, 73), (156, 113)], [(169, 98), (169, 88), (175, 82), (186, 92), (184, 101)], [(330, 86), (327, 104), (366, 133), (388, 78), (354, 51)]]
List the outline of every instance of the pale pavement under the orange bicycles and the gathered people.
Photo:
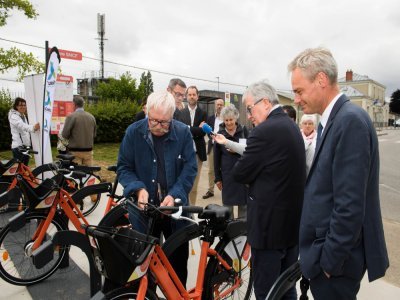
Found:
[[(207, 162), (203, 164), (202, 168), (202, 176), (200, 178), (199, 182), (199, 187), (198, 187), (198, 201), (197, 205), (200, 206), (206, 206), (207, 204), (210, 203), (216, 203), (216, 204), (221, 204), (221, 192), (218, 190), (218, 188), (215, 187), (214, 190), (214, 197), (209, 198), (209, 199), (202, 199), (202, 195), (204, 195), (207, 192), (208, 189), (208, 178), (207, 178), (207, 172), (208, 172), (208, 165)], [(100, 205), (96, 210), (88, 217), (88, 221), (91, 224), (96, 224), (98, 220), (102, 217), (103, 211), (104, 211), (104, 206), (105, 206), (105, 198), (102, 199)], [(71, 226), (72, 228), (72, 226)], [(199, 243), (196, 241), (193, 241), (193, 246), (195, 247), (196, 254), (200, 253), (199, 249)], [(86, 257), (82, 254), (80, 250), (77, 248), (73, 247), (71, 249), (71, 257), (75, 261), (75, 263), (82, 269), (86, 274), (88, 274), (88, 263)], [(197, 265), (197, 255), (196, 256), (190, 256), (189, 259), (189, 269), (196, 269)], [(196, 272), (189, 272), (189, 279), (188, 283), (194, 282), (194, 274)], [(68, 275), (68, 274), (67, 274)], [(64, 274), (64, 276), (67, 276)], [(53, 275), (54, 276), (54, 275)], [(74, 270), (70, 272), (68, 276), (73, 277), (74, 276)], [(50, 278), (51, 279), (51, 278)], [(87, 289), (86, 291), (80, 291), (78, 290), (79, 288), (76, 288), (76, 295), (74, 297), (70, 297), (64, 293), (64, 291), (71, 290), (71, 286), (68, 286), (69, 282), (68, 280), (65, 280), (63, 285), (55, 285), (54, 282), (52, 282), (50, 279), (47, 281), (44, 281), (43, 283), (40, 283), (36, 286), (34, 286), (36, 289), (40, 290), (40, 296), (35, 296), (35, 298), (32, 298), (31, 294), (29, 293), (28, 289), (26, 287), (20, 287), (20, 286), (13, 286), (11, 284), (8, 284), (7, 282), (3, 281), (0, 279), (0, 299), (15, 299), (15, 300), (39, 300), (39, 299), (50, 299), (51, 292), (53, 290), (57, 289), (58, 295), (63, 295), (61, 297), (57, 297), (58, 299), (87, 299), (88, 297), (79, 297), (79, 295), (83, 295), (86, 292), (86, 295), (89, 290), (89, 283), (86, 284), (84, 282), (84, 288)], [(74, 285), (72, 285), (74, 286)], [(31, 288), (30, 288), (31, 289)], [(35, 293), (38, 295), (38, 293)], [(308, 292), (309, 299), (312, 299), (311, 292)], [(255, 299), (254, 296), (252, 299)], [(388, 282), (386, 282), (384, 279), (379, 279), (373, 283), (368, 283), (367, 277), (364, 277), (362, 283), (361, 283), (361, 289), (358, 294), (357, 299), (361, 300), (369, 300), (369, 299), (400, 299), (400, 288), (396, 287)]]

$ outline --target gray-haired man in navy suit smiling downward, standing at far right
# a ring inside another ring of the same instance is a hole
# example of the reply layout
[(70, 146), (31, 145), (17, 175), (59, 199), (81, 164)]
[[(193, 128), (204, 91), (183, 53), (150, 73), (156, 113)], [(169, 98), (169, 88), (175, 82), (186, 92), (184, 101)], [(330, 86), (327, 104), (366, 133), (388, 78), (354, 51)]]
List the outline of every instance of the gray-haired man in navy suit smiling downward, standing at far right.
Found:
[(368, 114), (340, 93), (329, 50), (288, 66), (295, 103), (321, 115), (300, 226), (300, 261), (314, 299), (356, 299), (389, 266), (379, 203), (379, 152)]

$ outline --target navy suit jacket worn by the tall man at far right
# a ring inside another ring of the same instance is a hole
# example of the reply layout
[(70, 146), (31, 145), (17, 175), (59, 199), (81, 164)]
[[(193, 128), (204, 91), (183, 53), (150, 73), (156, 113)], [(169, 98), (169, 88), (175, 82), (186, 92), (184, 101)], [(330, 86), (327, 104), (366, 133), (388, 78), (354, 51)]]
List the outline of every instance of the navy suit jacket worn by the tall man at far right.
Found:
[[(307, 278), (370, 280), (389, 265), (379, 203), (379, 153), (368, 114), (342, 95), (315, 149), (300, 227), (300, 261)], [(366, 263), (366, 266), (365, 266)]]

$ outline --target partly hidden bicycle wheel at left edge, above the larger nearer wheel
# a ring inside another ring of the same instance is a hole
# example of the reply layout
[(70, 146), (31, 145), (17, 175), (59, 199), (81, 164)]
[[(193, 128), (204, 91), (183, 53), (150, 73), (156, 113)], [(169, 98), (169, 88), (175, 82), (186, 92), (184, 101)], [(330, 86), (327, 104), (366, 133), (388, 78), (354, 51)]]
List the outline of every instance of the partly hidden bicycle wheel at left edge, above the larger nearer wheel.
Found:
[[(0, 195), (8, 191), (8, 188), (11, 183), (9, 182), (0, 182)], [(8, 219), (11, 218), (19, 209), (23, 209), (25, 206), (25, 201), (23, 199), (23, 195), (18, 186), (16, 186), (12, 191), (8, 193), (12, 193), (12, 195), (2, 195), (3, 197), (12, 197), (12, 203), (4, 203), (2, 207), (0, 207), (0, 229), (8, 224)]]

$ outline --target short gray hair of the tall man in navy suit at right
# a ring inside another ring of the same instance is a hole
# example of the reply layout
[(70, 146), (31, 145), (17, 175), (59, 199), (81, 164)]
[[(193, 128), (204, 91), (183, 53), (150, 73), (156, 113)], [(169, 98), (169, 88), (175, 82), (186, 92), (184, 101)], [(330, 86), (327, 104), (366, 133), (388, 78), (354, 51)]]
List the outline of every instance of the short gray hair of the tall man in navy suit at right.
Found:
[(337, 83), (337, 64), (328, 49), (319, 47), (304, 50), (288, 65), (289, 72), (296, 68), (301, 69), (310, 81), (314, 81), (318, 73), (322, 72), (328, 76), (331, 84)]

